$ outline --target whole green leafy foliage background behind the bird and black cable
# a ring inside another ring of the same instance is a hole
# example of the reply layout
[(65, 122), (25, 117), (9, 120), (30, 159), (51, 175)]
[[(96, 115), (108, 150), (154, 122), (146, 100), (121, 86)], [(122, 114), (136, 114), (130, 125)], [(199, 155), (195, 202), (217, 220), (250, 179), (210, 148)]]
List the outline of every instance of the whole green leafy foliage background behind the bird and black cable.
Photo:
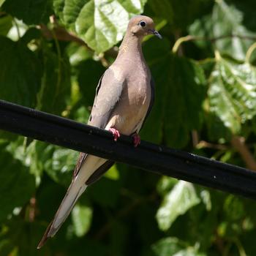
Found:
[[(142, 138), (256, 170), (255, 8), (252, 0), (0, 0), (0, 98), (86, 122), (129, 18), (143, 13), (164, 39), (143, 42), (157, 99)], [(255, 201), (121, 164), (37, 250), (78, 153), (7, 132), (0, 147), (0, 255), (256, 254)]]

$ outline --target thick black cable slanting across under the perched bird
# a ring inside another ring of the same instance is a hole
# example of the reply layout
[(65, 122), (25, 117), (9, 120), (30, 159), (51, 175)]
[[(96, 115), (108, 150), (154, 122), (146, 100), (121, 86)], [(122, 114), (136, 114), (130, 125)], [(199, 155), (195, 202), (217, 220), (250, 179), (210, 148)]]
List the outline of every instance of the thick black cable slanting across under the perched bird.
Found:
[(128, 136), (121, 135), (114, 142), (113, 135), (104, 129), (3, 100), (0, 129), (256, 199), (256, 173), (252, 170), (145, 141), (134, 148)]

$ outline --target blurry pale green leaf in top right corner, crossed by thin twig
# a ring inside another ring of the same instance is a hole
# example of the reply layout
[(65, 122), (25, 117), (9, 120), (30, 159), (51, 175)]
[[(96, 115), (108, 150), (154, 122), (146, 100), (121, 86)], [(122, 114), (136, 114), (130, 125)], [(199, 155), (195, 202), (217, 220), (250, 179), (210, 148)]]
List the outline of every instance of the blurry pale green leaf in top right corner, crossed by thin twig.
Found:
[[(247, 37), (256, 36), (243, 25), (243, 16), (244, 14), (236, 7), (219, 0), (216, 1), (211, 15), (195, 20), (189, 28), (189, 33), (197, 37), (218, 38), (214, 41), (214, 48), (222, 54), (243, 61), (246, 51), (254, 42)], [(195, 43), (200, 47), (211, 47), (211, 42), (207, 40)]]

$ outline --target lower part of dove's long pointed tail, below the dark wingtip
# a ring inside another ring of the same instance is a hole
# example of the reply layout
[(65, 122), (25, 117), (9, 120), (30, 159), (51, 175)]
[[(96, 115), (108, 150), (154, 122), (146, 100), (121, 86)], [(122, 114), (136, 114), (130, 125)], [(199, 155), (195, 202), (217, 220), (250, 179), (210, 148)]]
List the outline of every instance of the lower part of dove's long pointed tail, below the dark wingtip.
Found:
[(62, 200), (61, 205), (55, 214), (55, 217), (50, 222), (50, 225), (48, 225), (44, 236), (42, 236), (42, 239), (37, 246), (37, 249), (41, 248), (48, 240), (48, 238), (53, 237), (57, 233), (63, 222), (69, 216), (70, 211), (72, 211), (72, 208), (75, 206), (75, 203), (77, 202), (80, 195), (82, 195), (85, 191), (87, 185), (81, 182), (79, 186), (79, 181), (76, 181), (76, 178), (70, 184), (69, 189), (67, 190), (67, 194)]

